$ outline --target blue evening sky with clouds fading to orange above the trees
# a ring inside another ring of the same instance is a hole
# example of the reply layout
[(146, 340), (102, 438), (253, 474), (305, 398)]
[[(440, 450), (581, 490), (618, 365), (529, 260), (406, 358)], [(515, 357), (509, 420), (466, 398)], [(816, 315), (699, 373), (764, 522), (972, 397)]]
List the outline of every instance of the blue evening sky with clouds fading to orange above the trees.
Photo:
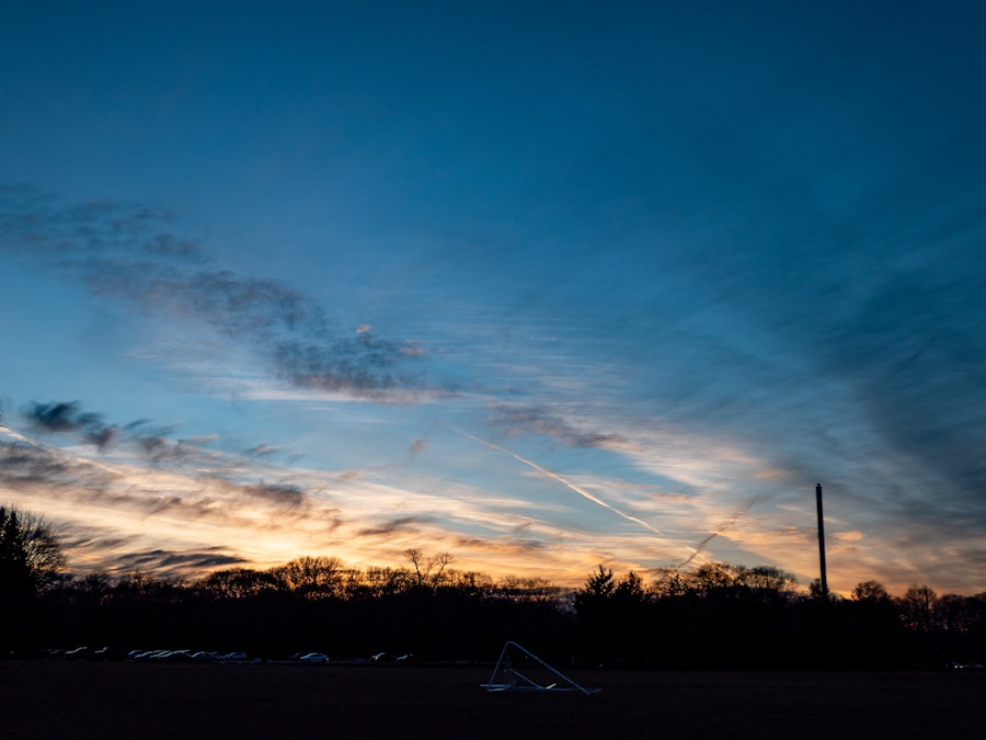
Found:
[(0, 9), (0, 502), (69, 570), (986, 591), (986, 8)]

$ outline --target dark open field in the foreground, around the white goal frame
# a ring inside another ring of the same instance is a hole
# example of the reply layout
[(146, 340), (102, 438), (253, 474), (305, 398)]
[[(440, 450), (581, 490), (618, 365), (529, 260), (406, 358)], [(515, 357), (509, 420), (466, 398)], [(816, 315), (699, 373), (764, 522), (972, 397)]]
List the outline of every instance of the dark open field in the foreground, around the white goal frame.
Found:
[(578, 671), (601, 693), (488, 693), (490, 669), (0, 661), (11, 738), (982, 738), (986, 673)]

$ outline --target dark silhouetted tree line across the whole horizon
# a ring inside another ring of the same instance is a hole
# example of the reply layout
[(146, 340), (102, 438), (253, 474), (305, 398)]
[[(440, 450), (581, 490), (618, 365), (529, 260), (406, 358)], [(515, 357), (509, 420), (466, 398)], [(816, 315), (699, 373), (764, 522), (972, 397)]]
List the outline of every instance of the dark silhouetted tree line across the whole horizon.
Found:
[(47, 647), (242, 650), (256, 658), (378, 652), (485, 661), (506, 640), (562, 664), (627, 668), (940, 668), (986, 661), (986, 593), (846, 599), (771, 566), (707, 562), (651, 580), (599, 566), (574, 590), (460, 570), (448, 553), (394, 567), (299, 557), (180, 580), (64, 572), (39, 516), (0, 506), (0, 653)]

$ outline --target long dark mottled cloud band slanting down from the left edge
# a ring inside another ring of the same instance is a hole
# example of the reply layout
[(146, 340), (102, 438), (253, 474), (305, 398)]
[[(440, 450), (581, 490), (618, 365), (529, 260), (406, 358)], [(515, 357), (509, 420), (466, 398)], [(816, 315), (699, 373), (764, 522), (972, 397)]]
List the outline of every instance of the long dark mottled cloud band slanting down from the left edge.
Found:
[(28, 187), (0, 189), (0, 249), (55, 267), (99, 296), (203, 321), (243, 341), (296, 386), (397, 398), (421, 387), (423, 349), (369, 331), (340, 331), (321, 307), (284, 283), (202, 270), (194, 240), (164, 214), (119, 203), (61, 204)]

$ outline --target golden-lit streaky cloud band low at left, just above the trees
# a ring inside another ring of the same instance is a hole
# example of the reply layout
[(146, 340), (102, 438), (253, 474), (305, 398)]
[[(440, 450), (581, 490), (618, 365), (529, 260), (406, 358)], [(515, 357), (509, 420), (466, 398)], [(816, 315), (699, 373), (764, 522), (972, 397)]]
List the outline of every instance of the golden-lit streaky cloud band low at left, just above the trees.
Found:
[(380, 565), (423, 543), (456, 547), (469, 562), (491, 546), (508, 559), (506, 553), (527, 551), (537, 536), (513, 534), (530, 522), (514, 513), (523, 502), (447, 485), (429, 493), (434, 481), (404, 488), (358, 471), (287, 470), (249, 454), (234, 458), (195, 447), (181, 460), (150, 465), (136, 449), (93, 449), (91, 456), (85, 447), (4, 434), (2, 496), (41, 509), (58, 525), (77, 571), (153, 567), (194, 576), (213, 562), (268, 566), (306, 553)]

